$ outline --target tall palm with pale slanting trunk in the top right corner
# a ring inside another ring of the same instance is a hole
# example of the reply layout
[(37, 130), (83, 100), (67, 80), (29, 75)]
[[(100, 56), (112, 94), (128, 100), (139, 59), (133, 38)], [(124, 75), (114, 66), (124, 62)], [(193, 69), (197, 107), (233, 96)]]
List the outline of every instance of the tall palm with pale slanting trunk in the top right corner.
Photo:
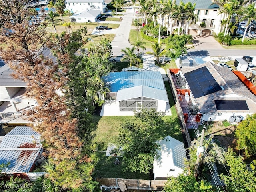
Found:
[[(244, 35), (242, 38), (242, 42), (244, 41), (244, 38), (246, 36), (246, 32), (248, 30), (248, 26), (252, 20), (256, 20), (256, 6), (255, 3), (249, 4), (248, 6), (243, 8), (243, 13), (245, 14), (243, 19), (247, 19), (246, 28), (244, 30)], [(248, 34), (249, 35), (249, 34)]]

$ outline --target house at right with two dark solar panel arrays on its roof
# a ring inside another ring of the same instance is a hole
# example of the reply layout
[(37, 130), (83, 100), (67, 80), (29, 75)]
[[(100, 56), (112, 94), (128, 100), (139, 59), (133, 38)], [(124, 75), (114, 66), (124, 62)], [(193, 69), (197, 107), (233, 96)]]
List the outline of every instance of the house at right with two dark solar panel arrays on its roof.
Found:
[(177, 75), (190, 89), (190, 112), (202, 114), (202, 121), (241, 121), (256, 112), (256, 96), (227, 67), (206, 62), (180, 68)]

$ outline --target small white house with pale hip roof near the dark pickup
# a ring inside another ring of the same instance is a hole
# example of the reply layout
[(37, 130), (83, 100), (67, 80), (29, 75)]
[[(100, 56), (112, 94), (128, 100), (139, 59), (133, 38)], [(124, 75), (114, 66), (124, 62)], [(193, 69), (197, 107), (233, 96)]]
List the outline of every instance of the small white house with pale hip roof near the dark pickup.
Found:
[(97, 18), (100, 17), (101, 10), (89, 9), (80, 13), (73, 14), (70, 16), (71, 22), (86, 23), (96, 22)]

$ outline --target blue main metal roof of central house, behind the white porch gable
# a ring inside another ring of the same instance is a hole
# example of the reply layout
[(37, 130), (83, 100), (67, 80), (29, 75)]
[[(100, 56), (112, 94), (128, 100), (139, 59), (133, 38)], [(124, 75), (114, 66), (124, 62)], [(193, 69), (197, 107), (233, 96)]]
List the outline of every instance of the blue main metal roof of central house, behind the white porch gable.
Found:
[(122, 89), (140, 85), (165, 90), (160, 71), (111, 72), (108, 76), (103, 77), (103, 79), (110, 86), (111, 92), (118, 92)]

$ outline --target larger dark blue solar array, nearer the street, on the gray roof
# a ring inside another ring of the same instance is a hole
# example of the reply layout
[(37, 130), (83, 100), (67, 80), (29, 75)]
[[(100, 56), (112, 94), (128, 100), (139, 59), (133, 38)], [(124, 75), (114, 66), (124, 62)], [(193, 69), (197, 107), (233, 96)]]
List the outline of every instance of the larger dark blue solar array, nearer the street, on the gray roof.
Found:
[(194, 98), (222, 90), (206, 67), (184, 74)]

